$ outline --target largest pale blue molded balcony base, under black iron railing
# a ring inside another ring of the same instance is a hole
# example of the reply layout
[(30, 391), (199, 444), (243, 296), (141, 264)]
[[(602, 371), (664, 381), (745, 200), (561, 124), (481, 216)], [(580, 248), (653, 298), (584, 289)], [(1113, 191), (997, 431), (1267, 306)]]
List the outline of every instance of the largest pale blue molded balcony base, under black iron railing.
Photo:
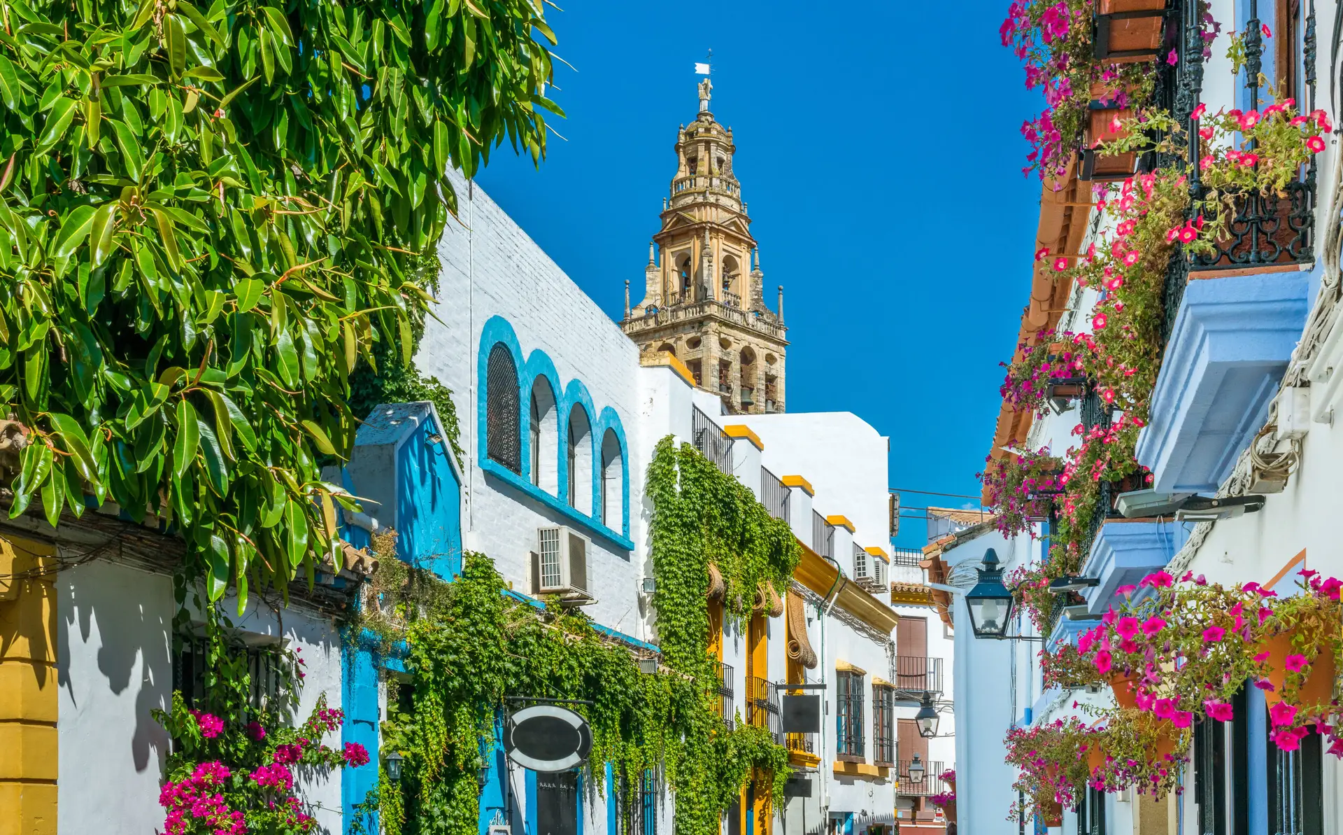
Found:
[(1138, 460), (1163, 492), (1215, 491), (1262, 426), (1309, 309), (1304, 272), (1189, 282)]

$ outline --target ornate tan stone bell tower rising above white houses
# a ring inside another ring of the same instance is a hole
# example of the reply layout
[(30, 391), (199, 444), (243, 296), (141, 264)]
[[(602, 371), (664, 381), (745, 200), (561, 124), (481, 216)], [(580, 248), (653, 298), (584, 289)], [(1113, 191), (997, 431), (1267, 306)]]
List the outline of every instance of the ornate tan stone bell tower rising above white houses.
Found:
[(732, 129), (709, 112), (713, 85), (700, 83), (700, 113), (677, 132), (677, 171), (649, 246), (643, 301), (620, 328), (645, 362), (663, 351), (690, 368), (696, 385), (728, 413), (783, 411), (783, 288), (778, 312), (764, 303), (760, 250), (741, 183), (732, 172)]

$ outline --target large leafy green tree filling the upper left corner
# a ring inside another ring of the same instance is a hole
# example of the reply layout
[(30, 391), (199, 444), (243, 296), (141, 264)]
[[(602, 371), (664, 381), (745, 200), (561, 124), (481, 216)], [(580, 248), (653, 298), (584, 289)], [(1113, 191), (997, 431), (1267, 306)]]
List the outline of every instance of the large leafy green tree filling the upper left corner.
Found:
[(528, 0), (0, 0), (11, 515), (154, 514), (214, 598), (310, 571), (349, 376), (410, 363), (443, 172), (544, 156), (547, 44)]

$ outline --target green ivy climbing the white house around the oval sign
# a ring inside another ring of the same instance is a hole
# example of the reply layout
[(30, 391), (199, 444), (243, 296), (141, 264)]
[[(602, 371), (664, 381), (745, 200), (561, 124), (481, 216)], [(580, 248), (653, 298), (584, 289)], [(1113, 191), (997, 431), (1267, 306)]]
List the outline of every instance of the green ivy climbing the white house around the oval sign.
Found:
[[(606, 792), (607, 764), (618, 776), (661, 770), (676, 793), (677, 835), (717, 834), (752, 780), (782, 801), (786, 749), (761, 727), (728, 730), (716, 713), (708, 566), (720, 566), (736, 601), (731, 612), (743, 617), (757, 602), (751, 590), (788, 582), (798, 545), (740, 483), (670, 438), (650, 465), (649, 495), (663, 653), (657, 674), (641, 672), (626, 645), (576, 609), (510, 594), (482, 554), (466, 554), (447, 584), (399, 563), (391, 536), (375, 539), (380, 566), (391, 570), (375, 578), (351, 631), (373, 631), (384, 651), (406, 641), (408, 679), (391, 683), (383, 741), (384, 753), (404, 757), (403, 776), (392, 783), (384, 773), (364, 804), (381, 812), (391, 835), (477, 832), (475, 774), (493, 757), (510, 697), (591, 702), (573, 707), (592, 727), (587, 784)], [(623, 784), (635, 791), (638, 780)]]

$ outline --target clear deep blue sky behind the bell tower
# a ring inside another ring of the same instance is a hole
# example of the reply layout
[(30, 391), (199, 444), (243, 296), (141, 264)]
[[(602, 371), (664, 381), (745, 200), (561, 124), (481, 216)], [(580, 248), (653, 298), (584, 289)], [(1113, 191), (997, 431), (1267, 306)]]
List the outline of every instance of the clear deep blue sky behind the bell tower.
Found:
[[(505, 145), (479, 184), (619, 319), (712, 48), (771, 305), (784, 285), (788, 410), (890, 436), (893, 487), (978, 495), (1039, 200), (1017, 130), (1042, 102), (999, 44), (1007, 0), (561, 5), (547, 20), (577, 70), (556, 70), (567, 141), (540, 171)], [(923, 532), (904, 520), (900, 545)]]

